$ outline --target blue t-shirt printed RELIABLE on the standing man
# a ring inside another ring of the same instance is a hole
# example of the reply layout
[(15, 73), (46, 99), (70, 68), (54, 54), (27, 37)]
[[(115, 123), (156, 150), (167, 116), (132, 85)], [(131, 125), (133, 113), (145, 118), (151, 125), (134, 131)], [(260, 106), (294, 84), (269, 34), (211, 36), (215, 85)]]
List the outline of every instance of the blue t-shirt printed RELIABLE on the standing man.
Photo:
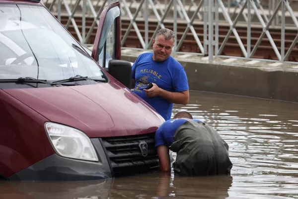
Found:
[(134, 93), (147, 101), (165, 120), (171, 118), (173, 103), (159, 96), (148, 98), (146, 89), (149, 83), (169, 92), (189, 90), (183, 66), (171, 56), (162, 62), (152, 59), (153, 53), (141, 54), (132, 68), (132, 79), (136, 80)]

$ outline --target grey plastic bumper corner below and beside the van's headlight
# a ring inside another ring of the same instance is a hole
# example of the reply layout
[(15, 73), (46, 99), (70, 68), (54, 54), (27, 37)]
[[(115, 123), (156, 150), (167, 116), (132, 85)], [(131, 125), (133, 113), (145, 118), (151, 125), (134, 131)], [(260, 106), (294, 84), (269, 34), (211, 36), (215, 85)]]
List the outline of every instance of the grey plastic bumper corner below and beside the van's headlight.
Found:
[(53, 154), (12, 175), (21, 181), (89, 181), (112, 178), (112, 172), (99, 139), (91, 139), (98, 162), (75, 160)]

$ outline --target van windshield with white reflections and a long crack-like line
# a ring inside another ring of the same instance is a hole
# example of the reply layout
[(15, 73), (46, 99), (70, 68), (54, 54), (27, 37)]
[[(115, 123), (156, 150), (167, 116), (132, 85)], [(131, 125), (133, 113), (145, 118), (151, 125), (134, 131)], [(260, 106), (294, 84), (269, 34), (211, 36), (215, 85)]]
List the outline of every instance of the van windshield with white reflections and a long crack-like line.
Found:
[(104, 78), (98, 65), (43, 6), (0, 4), (0, 79)]

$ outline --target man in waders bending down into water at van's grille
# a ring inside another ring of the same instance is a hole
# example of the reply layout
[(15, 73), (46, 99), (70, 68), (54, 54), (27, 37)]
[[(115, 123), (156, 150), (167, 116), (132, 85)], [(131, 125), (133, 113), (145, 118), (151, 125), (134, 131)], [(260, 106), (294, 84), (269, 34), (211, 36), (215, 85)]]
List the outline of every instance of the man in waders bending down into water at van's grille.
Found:
[(170, 172), (169, 149), (177, 153), (173, 169), (180, 175), (229, 175), (232, 168), (224, 139), (187, 111), (178, 112), (159, 126), (155, 147), (162, 172)]

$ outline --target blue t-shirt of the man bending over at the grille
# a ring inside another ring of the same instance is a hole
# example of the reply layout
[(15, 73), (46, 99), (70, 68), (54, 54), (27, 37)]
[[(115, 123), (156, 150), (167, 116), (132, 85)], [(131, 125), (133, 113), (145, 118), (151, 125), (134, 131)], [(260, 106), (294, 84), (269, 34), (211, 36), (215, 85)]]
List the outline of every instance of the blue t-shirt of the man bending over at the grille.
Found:
[[(191, 119), (201, 122), (198, 119)], [(155, 132), (155, 147), (159, 145), (171, 146), (174, 142), (174, 133), (179, 126), (184, 124), (187, 119), (169, 119), (163, 122)]]

